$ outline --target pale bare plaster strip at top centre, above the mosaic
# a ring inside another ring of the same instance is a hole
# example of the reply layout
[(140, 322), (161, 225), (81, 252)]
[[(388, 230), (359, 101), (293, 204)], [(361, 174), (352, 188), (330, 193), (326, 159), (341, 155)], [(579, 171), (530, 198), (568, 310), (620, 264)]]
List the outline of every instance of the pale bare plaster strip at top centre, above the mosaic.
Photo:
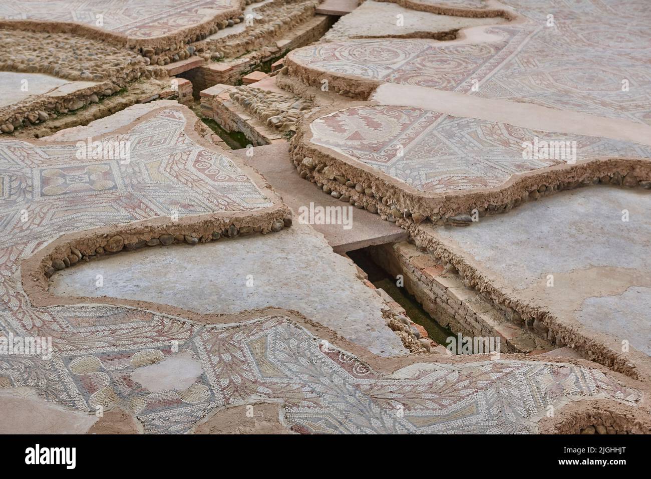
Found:
[[(398, 26), (397, 15), (404, 24)], [(504, 18), (470, 18), (438, 15), (400, 7), (396, 3), (367, 0), (348, 15), (342, 16), (322, 37), (321, 41), (345, 40), (374, 36), (411, 36), (417, 33), (429, 37), (431, 33), (504, 23)]]

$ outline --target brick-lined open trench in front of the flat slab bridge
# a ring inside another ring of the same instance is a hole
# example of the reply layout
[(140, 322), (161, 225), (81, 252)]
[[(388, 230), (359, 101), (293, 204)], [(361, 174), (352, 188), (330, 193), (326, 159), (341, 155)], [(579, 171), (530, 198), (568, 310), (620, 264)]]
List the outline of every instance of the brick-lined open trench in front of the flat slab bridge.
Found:
[[(452, 353), (540, 355), (557, 349), (531, 330), (510, 325), (503, 313), (465, 287), (457, 272), (409, 241), (368, 246), (347, 255), (381, 295), (388, 295), (387, 300), (399, 304), (430, 339)], [(473, 346), (462, 349), (466, 340)], [(575, 351), (564, 354), (581, 356)]]

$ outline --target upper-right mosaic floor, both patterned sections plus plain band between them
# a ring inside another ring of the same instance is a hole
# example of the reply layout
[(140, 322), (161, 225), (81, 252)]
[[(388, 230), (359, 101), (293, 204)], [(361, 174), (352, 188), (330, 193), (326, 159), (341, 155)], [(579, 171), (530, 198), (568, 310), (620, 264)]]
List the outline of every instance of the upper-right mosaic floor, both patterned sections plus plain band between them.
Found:
[[(309, 131), (301, 137), (301, 153), (337, 152), (337, 160), (346, 166), (370, 166), (370, 170), (361, 167), (357, 176), (381, 173), (388, 187), (413, 196), (412, 203), (429, 197), (424, 192), (498, 188), (518, 181), (522, 173), (562, 164), (604, 158), (648, 160), (651, 98), (640, 56), (651, 48), (651, 39), (641, 28), (648, 18), (641, 12), (633, 19), (637, 10), (633, 7), (631, 12), (628, 5), (613, 16), (615, 2), (582, 2), (587, 14), (580, 18), (563, 5), (508, 3), (517, 12), (508, 25), (466, 29), (465, 37), (452, 42), (372, 38), (320, 42), (292, 51), (289, 72), (301, 81), (318, 85), (329, 81), (335, 91), (363, 98), (377, 87), (367, 106), (331, 108), (331, 113), (311, 117)], [(555, 18), (550, 25), (544, 22), (547, 12)], [(593, 49), (594, 29), (617, 31), (622, 16), (633, 35), (626, 40), (606, 35), (603, 48)], [(572, 67), (554, 64), (559, 58), (571, 58)], [(606, 72), (603, 65), (613, 69)], [(396, 87), (389, 88), (391, 84)], [(445, 100), (443, 104), (436, 99), (428, 102), (432, 90), (439, 94), (435, 98)], [(475, 100), (476, 96), (493, 101)], [(423, 101), (431, 109), (422, 108)], [(528, 104), (544, 108), (530, 109), (527, 115)], [(510, 121), (495, 113), (499, 108), (513, 110)], [(472, 116), (477, 111), (483, 112), (481, 117)], [(593, 130), (592, 138), (575, 136), (572, 120), (581, 118), (568, 118), (563, 111), (594, 115), (589, 117), (594, 124), (614, 121), (610, 129)], [(532, 121), (534, 112), (548, 121)], [(614, 141), (624, 138), (613, 134), (618, 130), (626, 130), (624, 136), (633, 141)], [(595, 138), (602, 135), (609, 138)], [(537, 154), (536, 148), (536, 154), (525, 156), (523, 145), (537, 145), (538, 140), (575, 145), (575, 151), (553, 158)], [(404, 203), (398, 209), (409, 208)], [(422, 213), (431, 214), (436, 206)]]

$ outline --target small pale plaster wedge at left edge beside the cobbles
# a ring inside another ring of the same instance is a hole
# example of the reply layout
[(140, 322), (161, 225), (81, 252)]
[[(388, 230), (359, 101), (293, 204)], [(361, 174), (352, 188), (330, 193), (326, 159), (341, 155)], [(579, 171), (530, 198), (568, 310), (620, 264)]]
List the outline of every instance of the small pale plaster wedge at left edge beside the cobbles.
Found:
[[(27, 80), (27, 83), (23, 83), (23, 80)], [(96, 84), (94, 81), (62, 80), (41, 73), (0, 72), (0, 107), (38, 94), (64, 96)], [(23, 85), (27, 85), (27, 91), (23, 91)]]

